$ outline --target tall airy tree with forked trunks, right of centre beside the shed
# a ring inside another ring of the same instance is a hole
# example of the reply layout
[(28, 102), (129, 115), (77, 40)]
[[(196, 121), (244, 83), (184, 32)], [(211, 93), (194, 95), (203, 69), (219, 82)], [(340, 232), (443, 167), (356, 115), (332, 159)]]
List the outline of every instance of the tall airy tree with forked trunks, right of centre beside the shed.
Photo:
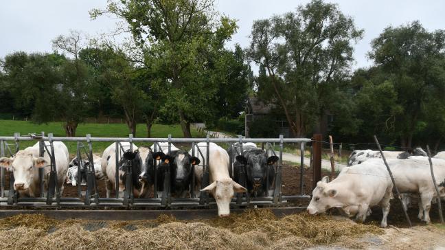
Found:
[(262, 78), (259, 91), (282, 107), (295, 137), (332, 109), (332, 95), (350, 73), (352, 44), (362, 34), (338, 5), (321, 0), (253, 23), (248, 55), (269, 78)]

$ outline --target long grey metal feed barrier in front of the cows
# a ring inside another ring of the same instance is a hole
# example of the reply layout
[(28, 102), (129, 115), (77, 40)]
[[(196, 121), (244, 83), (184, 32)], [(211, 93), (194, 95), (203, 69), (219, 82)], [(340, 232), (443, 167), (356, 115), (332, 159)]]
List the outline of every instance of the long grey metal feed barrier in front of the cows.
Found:
[[(11, 142), (12, 141), (12, 142)], [(137, 198), (133, 195), (133, 179), (131, 178), (131, 166), (124, 163), (122, 170), (126, 174), (125, 190), (123, 194), (119, 194), (119, 160), (122, 158), (122, 152), (126, 150), (133, 150), (133, 143), (152, 143), (154, 145), (154, 152), (162, 150), (159, 143), (168, 143), (168, 152), (170, 152), (171, 145), (174, 143), (190, 143), (192, 146), (192, 155), (201, 156), (203, 161), (199, 166), (203, 167), (203, 176), (201, 189), (209, 185), (209, 143), (228, 143), (230, 147), (236, 147), (236, 143), (240, 142), (241, 145), (238, 146), (237, 152), (241, 154), (243, 152), (242, 143), (253, 142), (261, 143), (262, 148), (266, 150), (269, 155), (279, 155), (279, 161), (268, 168), (273, 168), (275, 177), (269, 177), (269, 171), (267, 179), (275, 178), (273, 189), (271, 191), (272, 195), (267, 194), (264, 197), (249, 197), (249, 194), (238, 194), (232, 198), (231, 207), (247, 207), (251, 205), (279, 205), (286, 203), (290, 200), (300, 199), (300, 198), (310, 198), (310, 196), (303, 194), (303, 179), (304, 170), (301, 168), (300, 172), (300, 194), (292, 196), (282, 195), (282, 154), (284, 143), (297, 143), (300, 145), (301, 152), (304, 152), (306, 143), (311, 142), (311, 139), (307, 138), (283, 138), (281, 135), (279, 138), (266, 139), (266, 138), (172, 138), (170, 135), (168, 138), (133, 138), (131, 135), (129, 137), (111, 138), (111, 137), (91, 137), (87, 135), (86, 137), (53, 137), (52, 134), (45, 136), (44, 133), (41, 135), (29, 135), (21, 136), (19, 133), (15, 133), (13, 137), (0, 137), (0, 156), (1, 157), (11, 157), (19, 150), (20, 141), (39, 141), (40, 142), (40, 155), (43, 156), (44, 152), (47, 152), (50, 159), (50, 171), (47, 176), (47, 183), (44, 181), (44, 170), (41, 168), (39, 170), (39, 181), (41, 192), (38, 197), (21, 197), (17, 192), (14, 191), (14, 175), (12, 172), (5, 171), (5, 168), (0, 168), (0, 207), (124, 207), (124, 208), (141, 208), (141, 207), (209, 207), (215, 206), (216, 202), (214, 198), (210, 198), (207, 192), (200, 192), (197, 196), (194, 186), (196, 183), (195, 176), (192, 174), (192, 188), (190, 189), (190, 198), (174, 198), (170, 193), (170, 172), (166, 171), (163, 183), (163, 192), (159, 197), (157, 194), (157, 173), (155, 168), (155, 185), (153, 188), (152, 198)], [(77, 142), (77, 152), (78, 157), (78, 196), (77, 197), (62, 197), (59, 190), (59, 183), (57, 179), (57, 170), (55, 166), (54, 158), (54, 141), (76, 141)], [(93, 163), (93, 143), (98, 141), (109, 141), (115, 142), (115, 153), (116, 153), (116, 194), (114, 197), (100, 197), (98, 190), (98, 181), (95, 179), (95, 170)], [(130, 146), (123, 146), (122, 142), (127, 141)], [(203, 155), (202, 146), (198, 146), (199, 142), (205, 142), (205, 147), (207, 154)], [(273, 144), (278, 144), (278, 146), (273, 146)], [(275, 150), (275, 148), (278, 148)], [(303, 154), (301, 154), (303, 155)], [(82, 190), (80, 185), (81, 180), (81, 169), (84, 168), (82, 159), (88, 159), (89, 165), (86, 168), (87, 175), (87, 185), (86, 190)], [(153, 163), (157, 166), (157, 161), (153, 159)], [(229, 174), (233, 178), (233, 159), (230, 155), (230, 168)], [(301, 166), (304, 166), (304, 157), (301, 156)], [(194, 166), (192, 166), (192, 172), (194, 172)], [(245, 186), (245, 170), (240, 169), (240, 184)], [(9, 174), (9, 190), (5, 190), (5, 177)], [(44, 191), (46, 190), (46, 192)]]

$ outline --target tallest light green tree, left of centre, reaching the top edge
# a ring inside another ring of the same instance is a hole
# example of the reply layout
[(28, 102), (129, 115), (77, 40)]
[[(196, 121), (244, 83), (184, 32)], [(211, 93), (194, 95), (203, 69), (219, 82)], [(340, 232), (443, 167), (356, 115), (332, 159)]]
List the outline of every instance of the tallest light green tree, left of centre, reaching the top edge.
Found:
[(107, 10), (93, 10), (91, 16), (104, 13), (124, 19), (136, 43), (150, 45), (146, 60), (163, 72), (168, 89), (161, 110), (174, 111), (184, 137), (191, 137), (190, 121), (212, 113), (207, 103), (216, 93), (216, 84), (206, 78), (206, 59), (223, 49), (236, 30), (235, 21), (218, 19), (213, 0), (111, 1)]

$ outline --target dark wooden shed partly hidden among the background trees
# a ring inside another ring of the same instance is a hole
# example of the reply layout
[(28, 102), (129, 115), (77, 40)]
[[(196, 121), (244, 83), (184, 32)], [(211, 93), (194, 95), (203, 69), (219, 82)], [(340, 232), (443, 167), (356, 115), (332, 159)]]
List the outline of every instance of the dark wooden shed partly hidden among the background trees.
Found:
[[(247, 100), (246, 109), (245, 109), (245, 117), (244, 117), (244, 130), (246, 137), (250, 137), (249, 130), (251, 128), (251, 124), (258, 120), (261, 117), (272, 116), (275, 118), (275, 130), (278, 135), (283, 135), (284, 137), (292, 137), (292, 133), (290, 132), (290, 127), (286, 117), (284, 115), (274, 115), (273, 112), (277, 112), (281, 109), (281, 106), (277, 106), (273, 103), (264, 103), (257, 97), (250, 97)], [(277, 112), (282, 113), (282, 112)], [(320, 133), (326, 135), (330, 132), (330, 128), (332, 126), (332, 122), (334, 121), (334, 115), (332, 115), (329, 111), (326, 111), (323, 117), (321, 117), (321, 126)]]

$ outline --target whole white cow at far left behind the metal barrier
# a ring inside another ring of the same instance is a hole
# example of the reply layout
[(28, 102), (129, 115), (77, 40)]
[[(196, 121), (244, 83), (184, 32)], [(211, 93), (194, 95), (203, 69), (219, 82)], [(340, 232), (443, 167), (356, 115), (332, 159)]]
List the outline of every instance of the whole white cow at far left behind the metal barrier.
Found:
[[(45, 141), (49, 149), (49, 142)], [(62, 141), (54, 141), (54, 159), (57, 170), (57, 181), (60, 188), (60, 193), (63, 192), (63, 183), (67, 176), (67, 169), (69, 163), (68, 148)], [(0, 166), (9, 168), (14, 172), (14, 190), (18, 191), (22, 196), (35, 197), (41, 192), (40, 182), (38, 178), (38, 168), (44, 168), (45, 174), (43, 181), (45, 181), (45, 192), (47, 190), (47, 179), (51, 168), (51, 159), (45, 150), (43, 157), (39, 157), (39, 143), (32, 147), (19, 150), (19, 152), (12, 158), (0, 158)]]

